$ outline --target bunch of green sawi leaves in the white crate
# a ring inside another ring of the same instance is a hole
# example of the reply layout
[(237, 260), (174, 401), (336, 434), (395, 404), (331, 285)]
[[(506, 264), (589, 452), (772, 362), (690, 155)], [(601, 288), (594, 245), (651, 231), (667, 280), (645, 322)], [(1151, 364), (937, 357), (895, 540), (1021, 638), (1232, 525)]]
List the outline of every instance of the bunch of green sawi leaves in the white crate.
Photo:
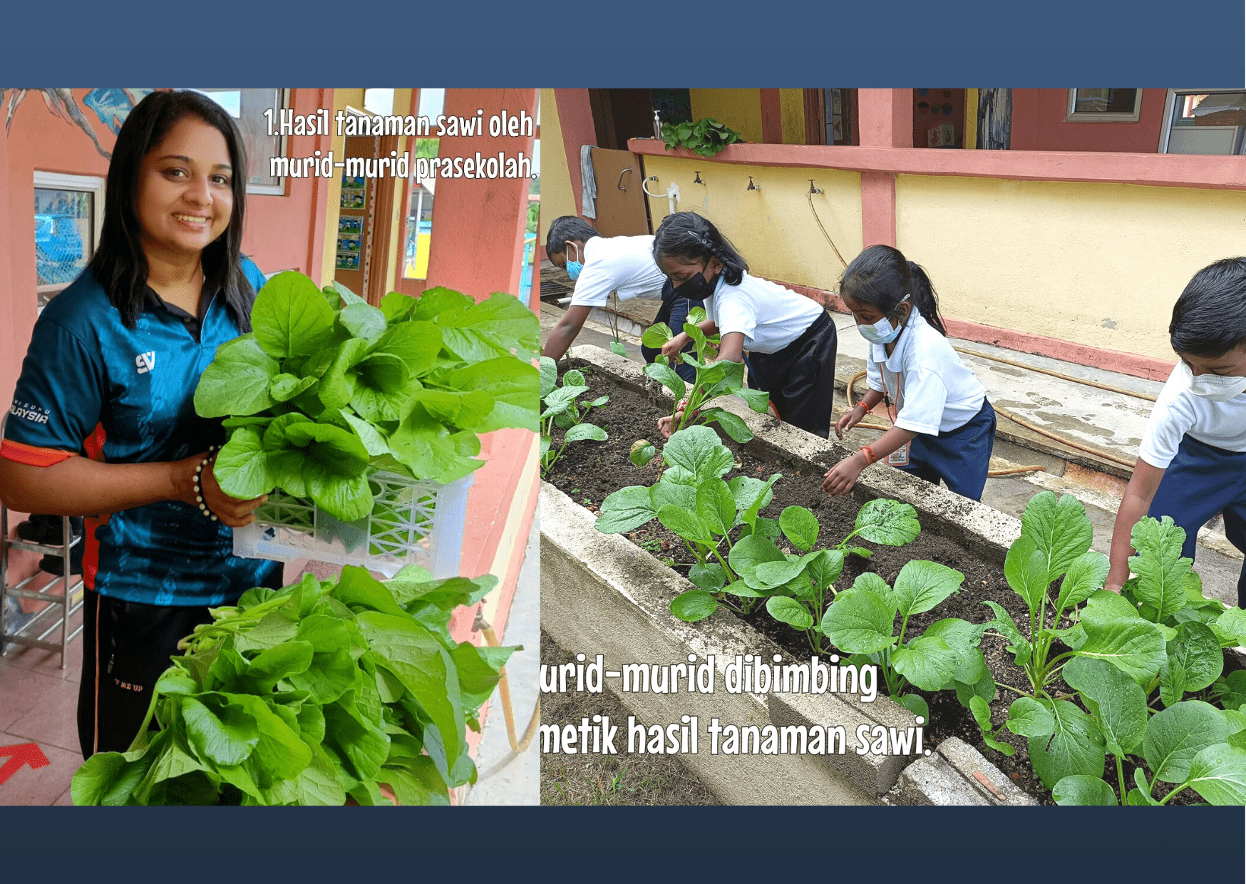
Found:
[(194, 393), (201, 416), (226, 418), (214, 474), (234, 497), (275, 488), (354, 521), (373, 510), (373, 471), (451, 483), (483, 464), (477, 434), (537, 429), (538, 322), (510, 294), (432, 288), (374, 307), (287, 272), (250, 319)]

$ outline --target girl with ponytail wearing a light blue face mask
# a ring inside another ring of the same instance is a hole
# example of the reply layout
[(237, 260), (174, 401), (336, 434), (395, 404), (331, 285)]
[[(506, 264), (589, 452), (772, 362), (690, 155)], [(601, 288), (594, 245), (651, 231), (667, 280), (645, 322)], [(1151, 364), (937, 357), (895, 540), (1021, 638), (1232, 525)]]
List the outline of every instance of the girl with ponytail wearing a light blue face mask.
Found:
[(996, 411), (986, 388), (952, 349), (926, 271), (890, 246), (871, 246), (847, 266), (840, 297), (870, 342), (870, 390), (840, 418), (842, 439), (886, 400), (892, 428), (826, 474), (822, 490), (847, 494), (870, 464), (883, 460), (971, 500), (982, 499)]

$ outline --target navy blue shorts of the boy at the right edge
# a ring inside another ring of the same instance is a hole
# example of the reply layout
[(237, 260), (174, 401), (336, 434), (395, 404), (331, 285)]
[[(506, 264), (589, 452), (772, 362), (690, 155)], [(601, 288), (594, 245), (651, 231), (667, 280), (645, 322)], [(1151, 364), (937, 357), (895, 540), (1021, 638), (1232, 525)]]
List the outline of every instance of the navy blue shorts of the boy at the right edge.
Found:
[[(1146, 514), (1171, 516), (1185, 529), (1181, 555), (1194, 559), (1199, 529), (1225, 514), (1225, 536), (1246, 552), (1246, 451), (1226, 451), (1184, 436)], [(1237, 607), (1246, 602), (1246, 567), (1237, 577)]]

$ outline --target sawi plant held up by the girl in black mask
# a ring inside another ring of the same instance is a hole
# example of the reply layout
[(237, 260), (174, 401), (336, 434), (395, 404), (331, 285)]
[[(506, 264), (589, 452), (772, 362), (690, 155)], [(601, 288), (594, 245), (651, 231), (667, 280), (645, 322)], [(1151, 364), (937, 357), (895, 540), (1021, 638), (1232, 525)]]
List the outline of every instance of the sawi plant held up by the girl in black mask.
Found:
[[(658, 357), (644, 367), (644, 373), (665, 387), (675, 395), (675, 410), (672, 418), (679, 414), (679, 405), (683, 404), (683, 415), (679, 423), (672, 423), (672, 430), (682, 430), (692, 424), (714, 424), (721, 426), (731, 439), (745, 443), (753, 439), (749, 425), (738, 415), (721, 408), (705, 408), (705, 404), (729, 394), (735, 394), (744, 399), (754, 411), (765, 411), (770, 404), (770, 394), (764, 390), (754, 390), (744, 385), (744, 363), (730, 362), (728, 359), (710, 359), (711, 353), (716, 355), (720, 343), (719, 335), (706, 337), (697, 325), (705, 320), (705, 310), (700, 307), (693, 309), (684, 323), (684, 333), (693, 339), (695, 355), (680, 353), (678, 358), (697, 370), (692, 387), (684, 382), (675, 370), (670, 368), (669, 359)], [(674, 334), (665, 323), (655, 323), (645, 329), (640, 339), (645, 347), (660, 348)]]

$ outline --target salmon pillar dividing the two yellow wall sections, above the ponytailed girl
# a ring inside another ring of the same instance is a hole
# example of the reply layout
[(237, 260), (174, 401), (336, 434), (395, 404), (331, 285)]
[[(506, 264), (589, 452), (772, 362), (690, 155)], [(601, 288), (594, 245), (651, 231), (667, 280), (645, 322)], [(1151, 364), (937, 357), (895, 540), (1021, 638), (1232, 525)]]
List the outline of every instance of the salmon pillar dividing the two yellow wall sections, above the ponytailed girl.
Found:
[[(857, 90), (862, 147), (913, 146), (913, 90)], [(896, 244), (896, 176), (861, 173), (861, 239), (866, 246)]]

